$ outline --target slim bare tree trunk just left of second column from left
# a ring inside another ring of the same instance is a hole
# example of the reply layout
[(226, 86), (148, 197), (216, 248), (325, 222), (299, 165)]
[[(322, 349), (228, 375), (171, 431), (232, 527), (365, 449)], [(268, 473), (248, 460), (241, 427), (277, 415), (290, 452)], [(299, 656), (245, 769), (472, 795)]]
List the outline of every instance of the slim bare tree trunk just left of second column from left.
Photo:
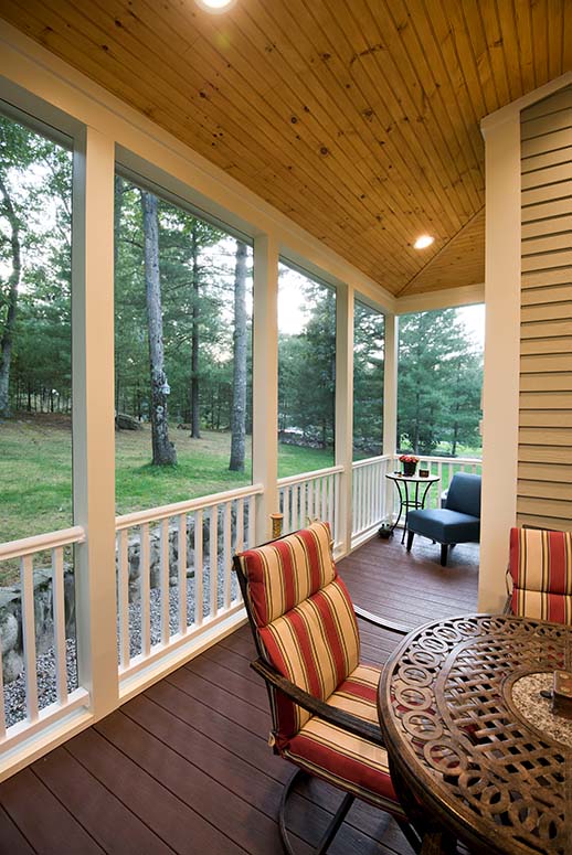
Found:
[(246, 431), (246, 244), (236, 244), (234, 268), (234, 339), (231, 413), (231, 462), (233, 472), (244, 472)]

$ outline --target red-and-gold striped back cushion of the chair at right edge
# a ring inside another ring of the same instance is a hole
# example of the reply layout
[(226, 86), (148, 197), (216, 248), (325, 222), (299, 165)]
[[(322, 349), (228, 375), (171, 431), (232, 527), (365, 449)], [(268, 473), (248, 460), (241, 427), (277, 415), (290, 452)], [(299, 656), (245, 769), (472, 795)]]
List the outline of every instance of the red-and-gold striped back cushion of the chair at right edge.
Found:
[(511, 528), (510, 611), (572, 623), (572, 532)]

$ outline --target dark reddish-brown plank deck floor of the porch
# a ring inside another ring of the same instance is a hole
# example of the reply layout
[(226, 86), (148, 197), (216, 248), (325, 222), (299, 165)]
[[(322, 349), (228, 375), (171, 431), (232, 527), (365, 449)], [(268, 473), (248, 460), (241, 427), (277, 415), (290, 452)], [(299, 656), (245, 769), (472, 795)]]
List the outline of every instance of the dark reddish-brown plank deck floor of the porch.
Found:
[[(478, 552), (374, 539), (340, 563), (356, 602), (411, 627), (476, 608)], [(364, 628), (363, 659), (382, 663), (398, 638)], [(0, 853), (156, 855), (280, 853), (276, 813), (292, 767), (266, 745), (264, 686), (242, 628), (119, 710), (0, 785)], [(301, 789), (289, 824), (307, 855), (339, 803)], [(411, 855), (393, 820), (354, 804), (341, 853)]]

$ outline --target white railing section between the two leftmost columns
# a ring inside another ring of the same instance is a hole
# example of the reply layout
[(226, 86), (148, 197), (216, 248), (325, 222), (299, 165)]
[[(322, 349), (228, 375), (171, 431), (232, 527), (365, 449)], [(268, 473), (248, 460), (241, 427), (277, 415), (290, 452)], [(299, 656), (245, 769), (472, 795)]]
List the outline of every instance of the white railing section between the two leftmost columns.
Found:
[(259, 484), (116, 519), (119, 678), (242, 609), (232, 556), (254, 545)]

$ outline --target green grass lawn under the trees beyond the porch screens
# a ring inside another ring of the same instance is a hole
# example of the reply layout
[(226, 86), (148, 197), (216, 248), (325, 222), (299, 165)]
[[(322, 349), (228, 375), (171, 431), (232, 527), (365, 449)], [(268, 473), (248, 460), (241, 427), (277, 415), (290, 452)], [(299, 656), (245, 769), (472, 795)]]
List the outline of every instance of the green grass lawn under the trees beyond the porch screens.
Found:
[[(177, 467), (149, 463), (151, 436), (116, 432), (117, 514), (219, 493), (251, 483), (251, 442), (244, 474), (229, 471), (230, 434), (191, 439), (172, 430)], [(105, 464), (105, 461), (102, 461)], [(332, 464), (330, 451), (280, 446), (280, 477)], [(72, 434), (65, 416), (22, 415), (0, 421), (0, 543), (65, 528), (72, 520)]]

